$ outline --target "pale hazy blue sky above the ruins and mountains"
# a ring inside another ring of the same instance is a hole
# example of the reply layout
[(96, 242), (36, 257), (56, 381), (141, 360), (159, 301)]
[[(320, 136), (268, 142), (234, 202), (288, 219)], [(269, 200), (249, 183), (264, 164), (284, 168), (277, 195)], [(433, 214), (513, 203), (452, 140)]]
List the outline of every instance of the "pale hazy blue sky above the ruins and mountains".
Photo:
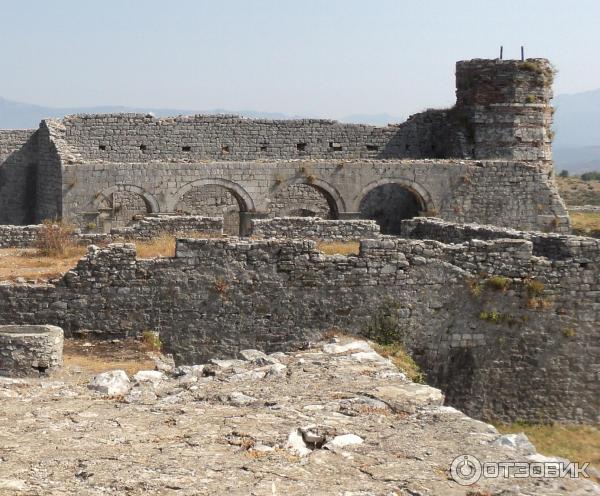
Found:
[(0, 96), (51, 106), (407, 115), (454, 63), (548, 57), (600, 87), (598, 0), (0, 0)]

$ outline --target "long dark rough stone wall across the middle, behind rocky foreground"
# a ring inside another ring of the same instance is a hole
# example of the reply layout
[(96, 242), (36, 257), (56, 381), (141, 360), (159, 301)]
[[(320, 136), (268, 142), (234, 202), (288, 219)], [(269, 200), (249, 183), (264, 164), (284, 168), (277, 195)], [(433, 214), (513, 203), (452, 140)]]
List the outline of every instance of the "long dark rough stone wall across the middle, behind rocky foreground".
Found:
[(595, 422), (598, 259), (537, 257), (523, 239), (382, 237), (348, 257), (312, 241), (180, 240), (176, 258), (155, 260), (111, 245), (91, 248), (57, 285), (0, 284), (0, 323), (105, 338), (155, 329), (180, 363), (391, 325), (470, 415)]

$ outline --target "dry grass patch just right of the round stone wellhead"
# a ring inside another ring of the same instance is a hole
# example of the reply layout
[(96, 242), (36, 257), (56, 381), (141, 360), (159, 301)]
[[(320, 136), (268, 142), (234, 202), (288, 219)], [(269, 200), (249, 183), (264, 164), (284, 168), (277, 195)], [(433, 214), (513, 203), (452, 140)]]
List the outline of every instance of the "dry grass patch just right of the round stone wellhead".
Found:
[(154, 362), (148, 357), (144, 343), (133, 339), (120, 343), (66, 339), (63, 359), (66, 366), (78, 367), (91, 374), (122, 369), (131, 376), (140, 370), (154, 370)]

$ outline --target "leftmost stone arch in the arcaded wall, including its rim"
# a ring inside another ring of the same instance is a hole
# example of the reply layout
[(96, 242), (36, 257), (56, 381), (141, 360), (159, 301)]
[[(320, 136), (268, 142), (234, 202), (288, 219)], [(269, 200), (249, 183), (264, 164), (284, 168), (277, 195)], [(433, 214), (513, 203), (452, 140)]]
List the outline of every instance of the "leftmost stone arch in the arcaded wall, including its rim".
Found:
[(117, 184), (97, 193), (92, 205), (98, 211), (96, 223), (103, 230), (131, 224), (137, 215), (160, 212), (158, 200), (133, 184)]

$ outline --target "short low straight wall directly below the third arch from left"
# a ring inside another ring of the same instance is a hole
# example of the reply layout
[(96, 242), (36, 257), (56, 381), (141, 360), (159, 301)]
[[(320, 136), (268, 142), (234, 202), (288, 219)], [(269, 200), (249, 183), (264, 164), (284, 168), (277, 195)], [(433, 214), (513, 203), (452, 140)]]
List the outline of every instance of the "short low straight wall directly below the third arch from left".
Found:
[(275, 217), (252, 221), (256, 238), (296, 238), (350, 241), (377, 238), (379, 226), (372, 220), (323, 220), (315, 217)]

